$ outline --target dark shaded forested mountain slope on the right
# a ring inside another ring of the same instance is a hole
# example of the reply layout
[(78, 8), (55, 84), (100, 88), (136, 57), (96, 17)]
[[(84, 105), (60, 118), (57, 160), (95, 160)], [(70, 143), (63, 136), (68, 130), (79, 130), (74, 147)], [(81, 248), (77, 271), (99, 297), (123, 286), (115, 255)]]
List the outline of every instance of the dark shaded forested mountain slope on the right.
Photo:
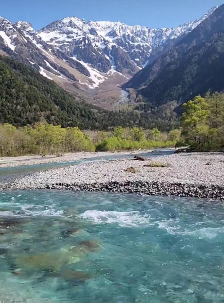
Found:
[(191, 96), (209, 89), (222, 91), (224, 72), (224, 5), (154, 63), (138, 72), (125, 88), (137, 90), (137, 101), (146, 108)]

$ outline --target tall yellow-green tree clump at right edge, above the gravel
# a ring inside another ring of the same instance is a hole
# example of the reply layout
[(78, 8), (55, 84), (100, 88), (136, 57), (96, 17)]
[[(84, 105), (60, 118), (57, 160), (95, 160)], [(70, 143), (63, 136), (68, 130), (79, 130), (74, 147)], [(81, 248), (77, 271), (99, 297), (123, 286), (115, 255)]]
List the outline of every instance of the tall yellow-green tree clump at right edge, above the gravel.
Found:
[(208, 93), (183, 105), (182, 134), (198, 150), (220, 150), (224, 146), (224, 95)]

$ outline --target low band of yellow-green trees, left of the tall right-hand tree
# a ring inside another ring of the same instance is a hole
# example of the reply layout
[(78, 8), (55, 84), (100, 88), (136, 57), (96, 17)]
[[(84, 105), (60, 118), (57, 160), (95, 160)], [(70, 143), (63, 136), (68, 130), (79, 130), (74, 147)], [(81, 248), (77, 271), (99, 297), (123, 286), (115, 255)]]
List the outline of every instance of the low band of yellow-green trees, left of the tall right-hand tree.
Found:
[[(94, 135), (93, 135), (94, 134)], [(0, 155), (64, 154), (78, 151), (115, 151), (137, 148), (171, 147), (180, 140), (180, 130), (161, 133), (157, 128), (116, 127), (113, 131), (81, 131), (46, 122), (16, 128), (0, 124)]]

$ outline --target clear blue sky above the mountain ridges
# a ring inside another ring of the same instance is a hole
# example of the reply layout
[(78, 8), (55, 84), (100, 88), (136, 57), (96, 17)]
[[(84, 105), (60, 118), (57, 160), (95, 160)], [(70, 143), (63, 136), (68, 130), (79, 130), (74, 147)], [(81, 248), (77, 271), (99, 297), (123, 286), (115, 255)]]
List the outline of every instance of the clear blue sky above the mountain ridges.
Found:
[(120, 21), (150, 28), (195, 20), (224, 0), (1, 0), (0, 16), (29, 21), (40, 29), (68, 16), (86, 21)]

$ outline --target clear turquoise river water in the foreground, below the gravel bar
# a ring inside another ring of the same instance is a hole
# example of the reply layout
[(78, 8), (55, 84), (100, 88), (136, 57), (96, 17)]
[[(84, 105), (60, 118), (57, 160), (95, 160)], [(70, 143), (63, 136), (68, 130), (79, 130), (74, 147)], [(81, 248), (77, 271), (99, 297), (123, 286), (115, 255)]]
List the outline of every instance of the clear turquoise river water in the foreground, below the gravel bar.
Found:
[(223, 213), (190, 198), (1, 192), (0, 301), (224, 302)]

